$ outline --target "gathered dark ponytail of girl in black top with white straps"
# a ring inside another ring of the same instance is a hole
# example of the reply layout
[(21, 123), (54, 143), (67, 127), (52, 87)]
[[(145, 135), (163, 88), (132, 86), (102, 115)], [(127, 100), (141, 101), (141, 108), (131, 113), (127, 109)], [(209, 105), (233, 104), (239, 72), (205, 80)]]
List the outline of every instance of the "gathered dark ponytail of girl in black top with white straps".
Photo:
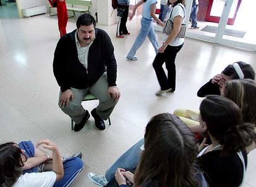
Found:
[[(222, 156), (229, 156), (239, 151), (242, 151), (247, 146), (252, 144), (256, 138), (253, 124), (234, 125), (224, 134), (220, 144), (223, 145), (221, 152)], [(222, 141), (222, 142), (221, 142)]]

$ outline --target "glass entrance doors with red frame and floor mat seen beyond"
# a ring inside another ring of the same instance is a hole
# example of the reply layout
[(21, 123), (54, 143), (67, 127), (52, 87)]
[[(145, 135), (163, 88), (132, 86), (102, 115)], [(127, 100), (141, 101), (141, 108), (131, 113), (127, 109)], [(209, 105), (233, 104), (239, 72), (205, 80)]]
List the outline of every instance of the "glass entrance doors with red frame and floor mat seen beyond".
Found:
[[(189, 16), (193, 0), (187, 0), (186, 36), (228, 46), (256, 50), (255, 1), (251, 0), (199, 0), (198, 29), (190, 29)], [(190, 7), (190, 8), (188, 8)], [(250, 20), (250, 21), (249, 21)]]

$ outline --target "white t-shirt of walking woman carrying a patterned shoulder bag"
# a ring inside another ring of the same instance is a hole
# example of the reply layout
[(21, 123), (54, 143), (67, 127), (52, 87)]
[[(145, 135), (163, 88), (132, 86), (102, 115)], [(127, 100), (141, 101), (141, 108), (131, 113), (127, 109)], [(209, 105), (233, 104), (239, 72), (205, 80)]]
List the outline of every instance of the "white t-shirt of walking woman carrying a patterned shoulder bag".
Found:
[[(164, 22), (166, 22), (169, 19), (170, 15), (171, 15), (171, 21), (172, 22), (174, 20), (174, 17), (181, 16), (182, 17), (182, 24), (185, 24), (186, 23), (185, 18), (184, 18), (185, 12), (184, 12), (184, 10), (182, 9), (181, 6), (185, 10), (185, 7), (181, 3), (177, 4), (175, 7), (171, 7), (171, 9), (167, 13), (166, 17), (164, 18)], [(168, 38), (168, 35), (164, 34), (164, 40), (163, 41), (166, 41), (167, 38)], [(169, 43), (169, 45), (170, 46), (181, 46), (181, 44), (183, 44), (183, 42), (184, 42), (184, 38), (174, 38), (173, 41), (171, 41)]]

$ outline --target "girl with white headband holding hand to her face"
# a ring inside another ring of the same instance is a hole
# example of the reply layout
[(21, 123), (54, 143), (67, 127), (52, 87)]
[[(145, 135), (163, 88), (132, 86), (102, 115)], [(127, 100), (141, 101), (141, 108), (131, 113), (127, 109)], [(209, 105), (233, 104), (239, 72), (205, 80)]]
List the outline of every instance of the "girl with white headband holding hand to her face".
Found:
[(224, 82), (233, 79), (255, 79), (255, 72), (252, 66), (245, 62), (235, 62), (226, 66), (221, 74), (216, 74), (207, 84), (203, 85), (197, 92), (198, 97), (207, 95), (220, 95), (220, 89)]

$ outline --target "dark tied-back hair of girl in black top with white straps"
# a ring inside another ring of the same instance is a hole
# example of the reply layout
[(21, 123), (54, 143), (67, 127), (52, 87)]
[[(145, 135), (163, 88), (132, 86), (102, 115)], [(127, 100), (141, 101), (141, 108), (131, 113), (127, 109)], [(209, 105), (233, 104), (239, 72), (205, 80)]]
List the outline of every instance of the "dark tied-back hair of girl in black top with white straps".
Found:
[(222, 156), (242, 151), (256, 137), (254, 126), (243, 123), (241, 109), (228, 98), (207, 96), (200, 105), (200, 115), (208, 133), (223, 145)]

